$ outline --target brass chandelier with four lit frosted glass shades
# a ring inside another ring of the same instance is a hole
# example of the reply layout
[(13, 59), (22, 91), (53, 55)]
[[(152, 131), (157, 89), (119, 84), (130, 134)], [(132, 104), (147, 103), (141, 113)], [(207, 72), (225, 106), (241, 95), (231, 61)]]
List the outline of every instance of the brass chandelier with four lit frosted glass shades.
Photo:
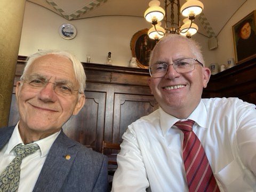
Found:
[[(177, 5), (177, 26), (174, 27), (174, 4)], [(187, 0), (185, 4), (180, 7), (179, 0), (165, 0), (164, 9), (159, 6), (160, 2), (157, 0), (153, 0), (149, 2), (149, 8), (145, 11), (144, 17), (145, 19), (151, 23), (153, 27), (148, 30), (148, 36), (151, 39), (158, 40), (164, 37), (166, 34), (180, 34), (183, 36), (187, 36), (190, 38), (192, 35), (197, 33), (198, 27), (195, 23), (193, 23), (196, 15), (200, 14), (204, 5), (198, 0)], [(167, 26), (167, 7), (171, 5), (171, 27)], [(180, 25), (180, 14), (186, 17), (183, 20), (183, 25)], [(164, 19), (165, 18), (165, 19)], [(161, 27), (161, 21), (164, 19), (165, 28)]]

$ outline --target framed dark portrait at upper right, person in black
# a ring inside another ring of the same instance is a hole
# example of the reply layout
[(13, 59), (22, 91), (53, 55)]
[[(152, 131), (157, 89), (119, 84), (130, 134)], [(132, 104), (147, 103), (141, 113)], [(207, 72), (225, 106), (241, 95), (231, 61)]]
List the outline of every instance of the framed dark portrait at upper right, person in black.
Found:
[(256, 11), (246, 15), (234, 26), (233, 39), (236, 63), (256, 57)]

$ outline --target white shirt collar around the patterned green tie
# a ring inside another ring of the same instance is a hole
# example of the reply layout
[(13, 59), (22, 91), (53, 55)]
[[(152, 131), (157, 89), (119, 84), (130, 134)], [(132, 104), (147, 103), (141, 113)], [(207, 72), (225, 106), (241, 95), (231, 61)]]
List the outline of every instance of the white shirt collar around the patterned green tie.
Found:
[[(23, 141), (20, 137), (20, 132), (19, 132), (19, 122), (17, 123), (17, 125), (14, 127), (14, 130), (13, 130), (13, 133), (12, 133), (12, 136), (9, 140), (9, 143), (8, 143), (8, 146), (7, 146), (7, 153), (11, 153), (12, 149), (17, 146), (18, 144), (22, 143), (23, 144)], [(61, 130), (60, 130), (61, 131)], [(41, 157), (45, 156), (48, 154), (51, 146), (52, 146), (52, 143), (55, 141), (55, 139), (58, 137), (58, 135), (60, 134), (60, 131), (58, 131), (57, 133), (54, 133), (44, 139), (41, 139), (41, 140), (38, 140), (38, 141), (35, 141), (33, 143), (36, 143), (40, 150), (41, 150)], [(12, 153), (14, 153), (14, 151), (12, 151)]]

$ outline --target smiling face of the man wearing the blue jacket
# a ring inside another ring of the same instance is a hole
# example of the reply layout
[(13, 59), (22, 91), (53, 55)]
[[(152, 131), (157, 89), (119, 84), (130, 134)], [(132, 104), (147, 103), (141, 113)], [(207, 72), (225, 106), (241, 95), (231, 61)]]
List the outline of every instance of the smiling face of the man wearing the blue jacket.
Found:
[[(70, 82), (78, 90), (73, 65), (65, 57), (47, 54), (36, 59), (25, 76), (42, 76), (50, 82)], [(54, 84), (35, 89), (27, 82), (19, 81), (16, 98), (20, 113), (19, 131), (22, 140), (33, 142), (58, 132), (71, 115), (76, 115), (85, 102), (84, 94), (59, 95)], [(78, 99), (79, 98), (79, 99)]]

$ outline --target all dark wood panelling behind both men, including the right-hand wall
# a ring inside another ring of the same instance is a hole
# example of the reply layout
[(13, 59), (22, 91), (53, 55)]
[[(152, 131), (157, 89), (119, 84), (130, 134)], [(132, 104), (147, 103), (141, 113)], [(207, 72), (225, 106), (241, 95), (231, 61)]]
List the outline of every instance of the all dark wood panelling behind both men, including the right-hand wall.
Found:
[[(15, 82), (25, 66), (19, 57)], [(158, 108), (147, 85), (147, 69), (83, 63), (87, 76), (85, 105), (63, 126), (68, 137), (101, 151), (102, 141), (122, 142), (127, 126)], [(15, 85), (14, 85), (15, 88)], [(19, 120), (13, 89), (9, 125)], [(203, 98), (238, 97), (256, 103), (256, 59), (212, 75)]]

